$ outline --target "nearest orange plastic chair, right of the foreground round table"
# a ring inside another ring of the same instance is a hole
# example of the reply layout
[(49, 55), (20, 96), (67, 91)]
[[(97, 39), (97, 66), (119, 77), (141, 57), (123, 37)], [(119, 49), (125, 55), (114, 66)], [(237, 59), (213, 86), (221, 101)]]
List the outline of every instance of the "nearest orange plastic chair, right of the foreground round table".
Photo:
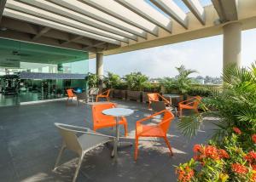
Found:
[[(164, 114), (164, 116), (162, 117), (161, 122), (159, 122), (157, 125), (148, 126), (141, 123), (141, 122), (148, 121), (152, 117), (155, 117), (161, 114)], [(170, 145), (166, 136), (173, 118), (174, 118), (174, 115), (172, 114), (171, 111), (164, 110), (164, 111), (157, 112), (154, 115), (151, 115), (149, 117), (145, 117), (136, 122), (135, 152), (134, 152), (135, 161), (137, 161), (137, 154), (138, 154), (137, 148), (138, 148), (139, 137), (159, 137), (159, 138), (165, 139), (166, 145), (168, 146), (170, 153), (173, 156), (172, 146)]]

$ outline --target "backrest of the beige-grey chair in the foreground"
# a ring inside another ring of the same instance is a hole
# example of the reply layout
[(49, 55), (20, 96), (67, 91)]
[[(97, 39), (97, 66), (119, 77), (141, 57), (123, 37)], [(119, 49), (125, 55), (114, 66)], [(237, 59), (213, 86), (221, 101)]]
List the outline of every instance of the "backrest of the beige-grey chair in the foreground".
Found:
[(67, 149), (80, 154), (80, 152), (82, 151), (82, 147), (79, 144), (76, 132), (72, 129), (72, 125), (55, 123), (55, 126), (59, 129), (63, 142), (67, 146)]

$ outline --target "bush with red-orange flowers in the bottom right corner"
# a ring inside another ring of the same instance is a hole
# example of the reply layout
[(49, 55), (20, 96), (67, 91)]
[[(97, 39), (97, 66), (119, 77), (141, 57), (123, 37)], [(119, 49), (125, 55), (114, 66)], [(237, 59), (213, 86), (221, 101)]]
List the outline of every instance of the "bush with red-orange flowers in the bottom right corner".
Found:
[(256, 181), (256, 152), (243, 151), (237, 143), (239, 137), (232, 134), (220, 145), (214, 141), (194, 145), (195, 156), (177, 167), (177, 181)]

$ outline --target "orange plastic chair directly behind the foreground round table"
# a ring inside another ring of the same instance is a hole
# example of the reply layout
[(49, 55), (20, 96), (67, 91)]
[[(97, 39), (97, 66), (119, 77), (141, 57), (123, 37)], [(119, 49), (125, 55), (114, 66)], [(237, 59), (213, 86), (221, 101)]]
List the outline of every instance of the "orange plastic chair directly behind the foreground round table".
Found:
[[(102, 113), (103, 110), (116, 107), (113, 103), (106, 103), (100, 105), (92, 105), (92, 117), (93, 117), (93, 130), (96, 131), (100, 128), (109, 128), (116, 126), (115, 117), (107, 116)], [(119, 125), (124, 125), (125, 136), (127, 136), (127, 122), (125, 117), (120, 117)]]

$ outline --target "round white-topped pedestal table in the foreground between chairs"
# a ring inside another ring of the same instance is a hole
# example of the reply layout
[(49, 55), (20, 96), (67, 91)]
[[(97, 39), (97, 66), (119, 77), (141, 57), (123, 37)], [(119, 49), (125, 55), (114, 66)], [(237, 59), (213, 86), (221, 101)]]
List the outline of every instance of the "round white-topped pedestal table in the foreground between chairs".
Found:
[(119, 118), (120, 117), (127, 117), (130, 116), (134, 111), (131, 109), (125, 109), (125, 108), (111, 108), (108, 110), (102, 111), (104, 115), (115, 117), (116, 121), (116, 139), (115, 139), (115, 145), (113, 147), (112, 156), (115, 158), (117, 157), (117, 150), (120, 146), (131, 146), (131, 142), (119, 142)]

